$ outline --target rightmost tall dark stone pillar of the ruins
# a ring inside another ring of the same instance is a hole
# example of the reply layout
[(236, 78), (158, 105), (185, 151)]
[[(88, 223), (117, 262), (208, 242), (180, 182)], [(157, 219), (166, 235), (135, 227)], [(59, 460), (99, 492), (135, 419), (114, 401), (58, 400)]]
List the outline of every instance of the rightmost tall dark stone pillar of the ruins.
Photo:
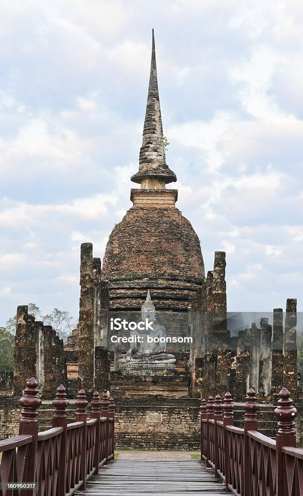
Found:
[(297, 300), (289, 298), (286, 302), (284, 334), (284, 386), (291, 397), (297, 398)]

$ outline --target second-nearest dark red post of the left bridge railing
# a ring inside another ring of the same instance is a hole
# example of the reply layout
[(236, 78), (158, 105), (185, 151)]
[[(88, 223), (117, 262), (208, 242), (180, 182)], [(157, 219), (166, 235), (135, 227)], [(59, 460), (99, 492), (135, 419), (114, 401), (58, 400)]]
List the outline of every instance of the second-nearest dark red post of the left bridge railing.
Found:
[(52, 401), (53, 407), (55, 407), (55, 413), (53, 416), (53, 427), (63, 427), (63, 433), (61, 436), (60, 444), (60, 460), (58, 467), (58, 494), (64, 495), (66, 492), (66, 475), (67, 475), (67, 407), (70, 402), (67, 399), (66, 389), (63, 384), (61, 384), (55, 395), (55, 399)]

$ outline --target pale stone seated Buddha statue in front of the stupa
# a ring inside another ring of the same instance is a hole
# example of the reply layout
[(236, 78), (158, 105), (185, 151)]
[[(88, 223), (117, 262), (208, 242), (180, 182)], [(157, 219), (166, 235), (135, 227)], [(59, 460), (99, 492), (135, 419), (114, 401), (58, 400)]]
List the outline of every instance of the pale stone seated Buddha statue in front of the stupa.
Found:
[[(134, 337), (133, 342), (130, 349), (119, 357), (119, 362), (124, 364), (175, 363), (176, 359), (174, 355), (165, 353), (166, 329), (163, 325), (158, 325), (155, 322), (155, 307), (151, 301), (150, 290), (148, 291), (146, 301), (141, 307), (141, 316), (144, 325), (139, 325), (137, 329), (130, 331), (130, 337)], [(140, 339), (136, 339), (136, 337)], [(154, 340), (154, 338), (156, 339)], [(137, 342), (140, 343), (138, 350)]]

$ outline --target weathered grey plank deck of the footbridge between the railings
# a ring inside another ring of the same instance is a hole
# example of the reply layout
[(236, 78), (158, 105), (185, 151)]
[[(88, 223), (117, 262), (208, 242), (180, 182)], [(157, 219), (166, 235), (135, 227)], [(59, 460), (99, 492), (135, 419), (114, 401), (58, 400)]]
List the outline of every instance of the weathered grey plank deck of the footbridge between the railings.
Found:
[(115, 460), (103, 465), (77, 496), (219, 496), (226, 494), (199, 460)]

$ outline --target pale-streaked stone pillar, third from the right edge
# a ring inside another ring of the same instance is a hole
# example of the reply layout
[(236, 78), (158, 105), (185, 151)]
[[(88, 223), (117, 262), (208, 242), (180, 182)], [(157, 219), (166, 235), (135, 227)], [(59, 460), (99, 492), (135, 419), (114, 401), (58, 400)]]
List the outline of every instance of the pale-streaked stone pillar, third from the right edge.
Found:
[(261, 318), (259, 394), (260, 401), (270, 401), (271, 393), (271, 336), (272, 328), (268, 318)]

